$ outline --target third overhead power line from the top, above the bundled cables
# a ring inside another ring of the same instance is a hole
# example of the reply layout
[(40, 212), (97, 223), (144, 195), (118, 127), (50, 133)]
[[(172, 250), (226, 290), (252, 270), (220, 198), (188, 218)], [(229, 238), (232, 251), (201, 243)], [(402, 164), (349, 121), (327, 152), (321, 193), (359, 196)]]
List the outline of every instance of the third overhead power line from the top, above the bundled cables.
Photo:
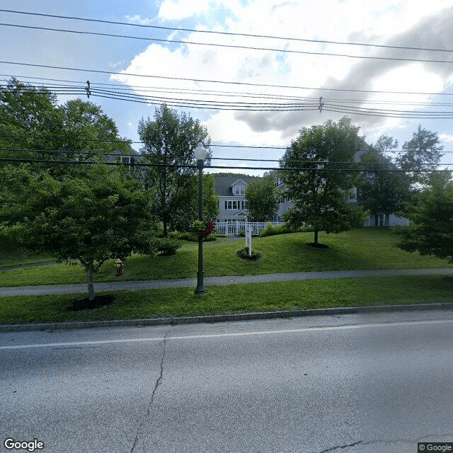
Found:
[(193, 81), (193, 82), (202, 82), (210, 84), (231, 84), (231, 85), (246, 85), (246, 86), (266, 86), (271, 88), (292, 88), (292, 89), (301, 89), (301, 90), (310, 90), (310, 91), (345, 91), (352, 93), (386, 93), (386, 94), (409, 94), (409, 95), (426, 95), (426, 96), (453, 96), (453, 93), (430, 93), (426, 91), (379, 91), (379, 90), (356, 90), (352, 88), (316, 88), (316, 87), (307, 87), (307, 86), (291, 86), (291, 85), (273, 85), (273, 84), (253, 84), (251, 82), (239, 82), (239, 81), (221, 81), (221, 80), (210, 80), (210, 79), (190, 79), (187, 77), (172, 77), (172, 76), (156, 76), (154, 74), (132, 74), (128, 72), (113, 72), (113, 71), (103, 71), (101, 69), (82, 69), (82, 68), (72, 68), (72, 67), (62, 67), (54, 66), (50, 64), (37, 64), (37, 63), (21, 63), (21, 62), (8, 62), (5, 60), (0, 60), (0, 64), (16, 64), (18, 66), (26, 67), (40, 67), (47, 69), (62, 69), (64, 71), (79, 71), (79, 72), (89, 72), (95, 74), (108, 74), (108, 75), (117, 75), (117, 76), (134, 76), (134, 77), (145, 77), (151, 79), (166, 79), (166, 80), (183, 80), (183, 81)]

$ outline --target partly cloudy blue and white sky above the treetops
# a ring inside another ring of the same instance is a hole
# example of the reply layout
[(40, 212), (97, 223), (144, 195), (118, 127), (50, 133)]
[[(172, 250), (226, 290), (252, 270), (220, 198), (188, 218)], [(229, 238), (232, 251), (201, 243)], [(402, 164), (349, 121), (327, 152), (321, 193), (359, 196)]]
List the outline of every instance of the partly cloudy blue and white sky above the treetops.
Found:
[(439, 134), (442, 164), (453, 161), (451, 0), (2, 0), (0, 8), (21, 12), (0, 11), (1, 83), (16, 76), (84, 88), (89, 80), (89, 100), (134, 142), (139, 120), (166, 101), (222, 145), (212, 147), (212, 165), (222, 166), (212, 171), (262, 174), (246, 167), (277, 166), (259, 159), (280, 159), (302, 127), (343, 115), (368, 143), (387, 134), (399, 149), (421, 125)]

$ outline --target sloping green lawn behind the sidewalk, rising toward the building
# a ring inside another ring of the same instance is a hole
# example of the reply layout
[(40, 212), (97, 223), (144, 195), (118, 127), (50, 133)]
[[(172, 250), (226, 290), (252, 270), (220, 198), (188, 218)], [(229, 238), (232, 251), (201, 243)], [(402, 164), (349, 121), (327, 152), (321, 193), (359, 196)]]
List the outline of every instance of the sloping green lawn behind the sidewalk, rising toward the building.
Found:
[[(205, 244), (205, 276), (258, 275), (311, 270), (447, 268), (445, 260), (418, 253), (407, 253), (395, 246), (398, 237), (389, 229), (362, 228), (342, 234), (319, 234), (329, 248), (312, 248), (313, 233), (282, 234), (253, 238), (253, 249), (261, 253), (258, 261), (241, 260), (238, 241)], [(155, 280), (195, 277), (197, 247), (187, 245), (174, 256), (132, 256), (125, 261), (125, 275), (115, 277), (113, 260), (104, 263), (95, 282)], [(81, 266), (56, 265), (0, 272), (0, 286), (53, 285), (86, 281)]]

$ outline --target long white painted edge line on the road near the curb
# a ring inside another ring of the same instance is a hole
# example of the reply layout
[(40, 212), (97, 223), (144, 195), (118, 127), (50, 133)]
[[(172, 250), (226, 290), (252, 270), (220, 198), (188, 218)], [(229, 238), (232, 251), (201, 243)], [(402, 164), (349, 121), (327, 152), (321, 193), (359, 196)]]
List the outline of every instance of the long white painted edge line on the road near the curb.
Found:
[[(166, 341), (170, 340), (193, 340), (197, 338), (222, 338), (222, 337), (239, 337), (239, 336), (254, 336), (254, 335), (273, 335), (278, 333), (302, 333), (314, 331), (334, 331), (334, 330), (347, 330), (347, 329), (360, 329), (370, 327), (382, 326), (419, 326), (423, 324), (440, 324), (440, 323), (453, 323), (453, 319), (432, 319), (426, 321), (397, 321), (387, 323), (364, 323), (364, 324), (350, 324), (342, 326), (319, 326), (319, 327), (304, 327), (293, 329), (282, 329), (278, 331), (253, 331), (253, 332), (234, 332), (234, 333), (210, 333), (206, 335), (188, 335), (188, 336), (168, 336)], [(36, 345), (10, 345), (0, 346), (0, 350), (11, 349), (27, 349), (27, 348), (57, 348), (66, 346), (84, 346), (84, 345), (103, 345), (113, 343), (138, 343), (144, 341), (164, 341), (164, 337), (151, 337), (151, 338), (120, 338), (117, 340), (96, 340), (96, 341), (71, 341), (67, 343), (40, 343)]]

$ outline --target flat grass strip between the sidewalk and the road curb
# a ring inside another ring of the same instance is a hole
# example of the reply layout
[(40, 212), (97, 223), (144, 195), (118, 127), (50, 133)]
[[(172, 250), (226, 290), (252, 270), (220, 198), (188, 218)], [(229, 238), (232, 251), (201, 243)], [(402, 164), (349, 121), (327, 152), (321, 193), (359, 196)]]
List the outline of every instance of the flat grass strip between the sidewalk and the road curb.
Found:
[(101, 321), (166, 316), (312, 309), (332, 306), (453, 302), (453, 278), (372, 277), (268, 282), (193, 288), (109, 292), (115, 302), (93, 310), (67, 311), (80, 295), (0, 298), (0, 323)]

